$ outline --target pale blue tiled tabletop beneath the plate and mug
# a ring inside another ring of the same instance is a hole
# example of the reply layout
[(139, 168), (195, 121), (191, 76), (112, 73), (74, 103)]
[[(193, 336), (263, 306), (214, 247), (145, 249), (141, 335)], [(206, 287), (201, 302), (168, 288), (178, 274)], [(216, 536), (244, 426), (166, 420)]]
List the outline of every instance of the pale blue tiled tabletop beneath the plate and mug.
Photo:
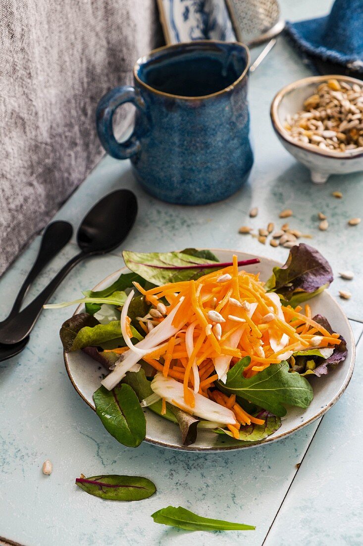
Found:
[[(325, 0), (282, 2), (284, 14), (292, 19), (323, 14), (329, 5)], [(129, 187), (137, 194), (140, 212), (124, 248), (162, 251), (191, 245), (224, 247), (285, 260), (285, 249), (264, 247), (256, 239), (237, 232), (240, 225), (248, 223), (255, 227), (270, 221), (278, 224), (279, 211), (291, 207), (294, 217), (290, 224), (314, 235), (312, 244), (329, 259), (334, 272), (355, 272), (353, 281), (335, 280), (331, 292), (337, 295), (338, 289), (348, 287), (353, 298), (343, 301), (343, 308), (350, 318), (363, 319), (363, 295), (359, 289), (363, 282), (362, 228), (345, 225), (348, 218), (361, 216), (362, 174), (332, 177), (323, 187), (311, 185), (307, 171), (283, 150), (270, 127), (269, 104), (275, 92), (308, 74), (299, 57), (280, 39), (251, 77), (255, 167), (250, 183), (232, 198), (207, 207), (166, 205), (138, 188), (128, 162), (105, 158), (57, 218), (69, 219), (76, 228), (102, 195)], [(331, 197), (335, 189), (343, 192), (341, 201)], [(251, 206), (259, 207), (258, 217), (252, 220), (248, 218)], [(319, 210), (329, 215), (329, 232), (317, 229)], [(39, 238), (2, 277), (0, 319), (10, 308), (38, 245)], [(117, 254), (121, 250), (78, 265), (52, 300), (72, 299), (119, 269), (122, 260)], [(66, 246), (29, 296), (43, 287), (76, 251), (74, 242)], [(44, 312), (25, 351), (0, 364), (0, 536), (25, 546), (181, 545), (191, 539), (203, 546), (261, 545), (274, 522), (266, 544), (355, 546), (362, 542), (357, 530), (359, 514), (350, 503), (359, 495), (359, 458), (353, 463), (351, 460), (358, 451), (361, 432), (356, 404), (359, 367), (347, 393), (326, 414), (318, 429), (315, 423), (286, 440), (227, 455), (183, 454), (148, 444), (132, 450), (120, 446), (106, 433), (66, 376), (58, 330), (69, 314), (69, 309)], [(363, 325), (353, 325), (358, 339)], [(358, 366), (362, 353), (360, 349)], [(297, 471), (295, 465), (306, 450)], [(41, 473), (46, 458), (54, 465), (50, 477)], [(81, 472), (144, 475), (155, 481), (158, 492), (140, 503), (101, 501), (76, 488), (74, 479)], [(257, 530), (192, 536), (154, 524), (150, 514), (169, 504), (180, 504), (210, 517), (255, 524)], [(349, 533), (342, 534), (343, 526), (349, 527)]]

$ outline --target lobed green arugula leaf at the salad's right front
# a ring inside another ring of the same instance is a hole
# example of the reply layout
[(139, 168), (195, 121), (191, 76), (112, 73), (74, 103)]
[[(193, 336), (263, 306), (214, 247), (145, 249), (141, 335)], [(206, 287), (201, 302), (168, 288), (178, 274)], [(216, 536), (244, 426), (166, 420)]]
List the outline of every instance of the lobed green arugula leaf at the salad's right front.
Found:
[(246, 379), (242, 371), (250, 357), (239, 360), (227, 373), (226, 383), (216, 382), (216, 387), (226, 394), (235, 394), (268, 410), (278, 417), (286, 415), (282, 403), (307, 408), (313, 399), (313, 390), (305, 377), (289, 372), (288, 363), (271, 364), (262, 372)]

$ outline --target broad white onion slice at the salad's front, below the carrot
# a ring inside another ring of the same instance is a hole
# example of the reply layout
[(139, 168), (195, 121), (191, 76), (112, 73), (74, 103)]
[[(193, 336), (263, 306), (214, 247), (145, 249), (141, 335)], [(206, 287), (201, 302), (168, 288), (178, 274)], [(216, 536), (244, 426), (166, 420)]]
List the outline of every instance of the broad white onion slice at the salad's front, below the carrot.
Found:
[[(184, 400), (183, 384), (172, 377), (164, 377), (162, 373), (156, 373), (151, 388), (154, 393), (158, 394), (161, 398), (165, 398), (167, 402), (173, 404), (174, 400), (179, 406), (184, 407), (185, 411), (204, 420), (223, 423), (225, 425), (233, 425), (235, 423), (235, 416), (231, 410), (213, 402), (213, 400), (209, 400), (209, 398), (205, 398), (202, 394), (194, 394), (194, 407), (187, 405)], [(189, 390), (192, 392), (191, 389)]]

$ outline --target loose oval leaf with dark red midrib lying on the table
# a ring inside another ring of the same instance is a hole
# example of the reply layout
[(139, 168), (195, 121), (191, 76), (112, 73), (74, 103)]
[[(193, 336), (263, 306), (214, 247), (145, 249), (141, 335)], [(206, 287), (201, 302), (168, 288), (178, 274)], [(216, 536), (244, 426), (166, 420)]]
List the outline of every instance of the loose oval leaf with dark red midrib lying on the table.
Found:
[(103, 474), (90, 478), (76, 478), (76, 485), (95, 497), (110, 501), (141, 501), (154, 495), (156, 487), (147, 478)]

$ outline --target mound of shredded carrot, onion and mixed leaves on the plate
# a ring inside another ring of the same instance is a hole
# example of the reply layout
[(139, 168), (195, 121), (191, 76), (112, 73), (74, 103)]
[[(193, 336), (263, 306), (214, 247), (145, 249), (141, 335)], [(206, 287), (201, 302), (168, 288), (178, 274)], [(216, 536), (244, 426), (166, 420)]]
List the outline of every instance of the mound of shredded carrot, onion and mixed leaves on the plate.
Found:
[(141, 407), (178, 423), (186, 446), (205, 428), (261, 441), (279, 429), (286, 404), (308, 407), (306, 377), (346, 357), (328, 321), (300, 305), (332, 280), (307, 245), (292, 248), (267, 283), (240, 269), (257, 260), (219, 264), (209, 251), (124, 258), (132, 272), (85, 292), (86, 313), (61, 329), (65, 351), (83, 349), (111, 370), (94, 400), (121, 443), (143, 440)]

